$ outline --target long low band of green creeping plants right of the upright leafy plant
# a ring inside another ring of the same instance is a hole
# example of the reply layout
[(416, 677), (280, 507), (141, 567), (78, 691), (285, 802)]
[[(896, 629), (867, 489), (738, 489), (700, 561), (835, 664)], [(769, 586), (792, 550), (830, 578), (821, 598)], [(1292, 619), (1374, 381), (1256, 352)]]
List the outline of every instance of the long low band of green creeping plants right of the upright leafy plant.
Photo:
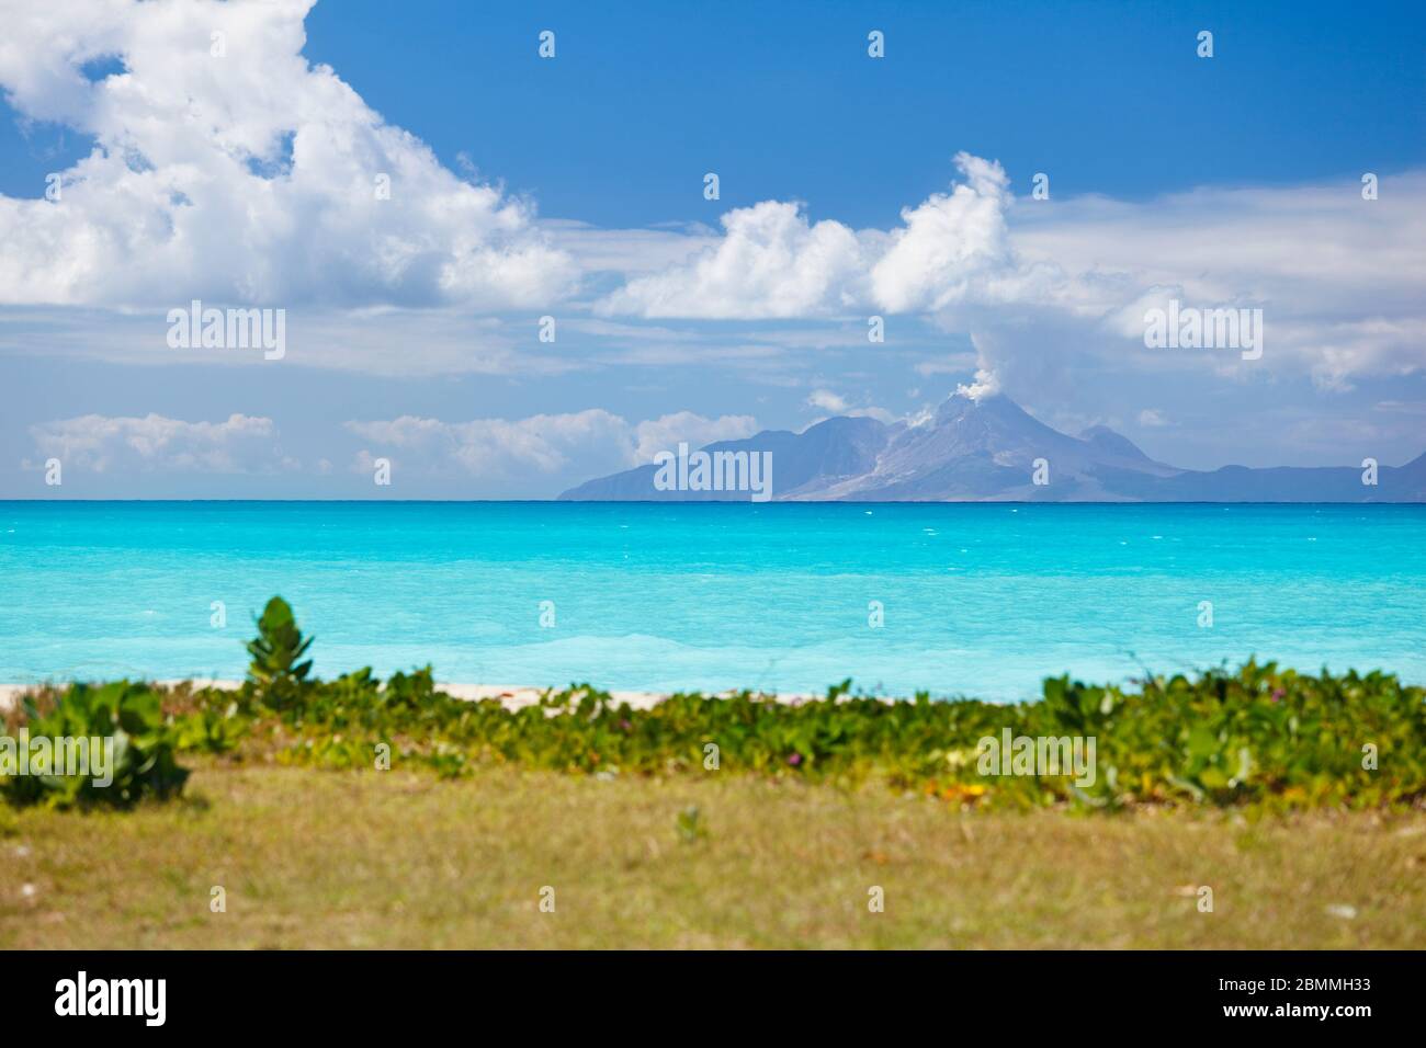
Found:
[[(1370, 673), (1303, 676), (1275, 664), (1152, 677), (1138, 690), (1050, 679), (1044, 699), (884, 702), (847, 686), (800, 704), (674, 694), (635, 710), (592, 687), (508, 710), (436, 690), (429, 667), (385, 687), (369, 670), (314, 684), (285, 759), (371, 767), (374, 747), (441, 774), (481, 763), (576, 773), (722, 771), (838, 783), (881, 779), (960, 804), (1266, 804), (1373, 807), (1426, 798), (1426, 693)], [(1095, 740), (1094, 781), (981, 774), (980, 740)], [(1376, 754), (1370, 767), (1369, 753)]]

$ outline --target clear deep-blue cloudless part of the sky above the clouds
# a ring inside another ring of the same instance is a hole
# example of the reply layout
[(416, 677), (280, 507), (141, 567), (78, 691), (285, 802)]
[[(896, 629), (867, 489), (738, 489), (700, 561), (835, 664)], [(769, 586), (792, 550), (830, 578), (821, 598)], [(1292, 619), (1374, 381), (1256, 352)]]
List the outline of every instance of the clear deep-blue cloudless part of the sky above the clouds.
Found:
[[(888, 60), (866, 60), (868, 27)], [(532, 61), (542, 29), (558, 60)], [(1196, 58), (1201, 29), (1212, 63)], [(806, 200), (888, 225), (940, 188), (950, 154), (1067, 194), (1295, 184), (1426, 158), (1420, 4), (319, 3), (304, 54), (451, 165), (599, 225), (707, 221)], [(30, 138), (6, 107), (0, 191), (37, 195), (91, 138)], [(689, 173), (694, 173), (692, 181)], [(692, 191), (690, 191), (692, 187)]]

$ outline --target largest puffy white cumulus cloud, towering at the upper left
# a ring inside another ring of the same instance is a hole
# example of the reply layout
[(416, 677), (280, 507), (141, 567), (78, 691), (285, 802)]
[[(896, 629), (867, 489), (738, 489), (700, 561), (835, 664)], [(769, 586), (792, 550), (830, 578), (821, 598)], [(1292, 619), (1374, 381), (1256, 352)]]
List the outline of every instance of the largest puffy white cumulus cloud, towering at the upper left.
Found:
[[(459, 180), (302, 57), (311, 4), (7, 3), (7, 101), (94, 148), (58, 173), (58, 200), (0, 197), (0, 302), (493, 309), (566, 294), (576, 265), (525, 204)], [(91, 78), (104, 61), (121, 67)]]

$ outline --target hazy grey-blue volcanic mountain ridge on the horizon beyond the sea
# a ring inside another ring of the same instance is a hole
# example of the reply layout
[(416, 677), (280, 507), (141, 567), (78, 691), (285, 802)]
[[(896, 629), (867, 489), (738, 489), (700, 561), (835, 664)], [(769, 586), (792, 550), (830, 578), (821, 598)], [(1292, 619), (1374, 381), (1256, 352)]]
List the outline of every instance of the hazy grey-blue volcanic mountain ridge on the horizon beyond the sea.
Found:
[[(1376, 485), (1363, 483), (1359, 466), (1184, 469), (1152, 459), (1108, 426), (1062, 433), (1001, 394), (955, 394), (917, 425), (843, 415), (800, 433), (764, 429), (699, 452), (730, 471), (743, 453), (767, 455), (774, 502), (1426, 502), (1426, 452), (1402, 466), (1379, 466)], [(559, 498), (750, 498), (746, 488), (700, 490), (673, 481), (672, 466), (660, 476), (659, 463), (645, 465)]]

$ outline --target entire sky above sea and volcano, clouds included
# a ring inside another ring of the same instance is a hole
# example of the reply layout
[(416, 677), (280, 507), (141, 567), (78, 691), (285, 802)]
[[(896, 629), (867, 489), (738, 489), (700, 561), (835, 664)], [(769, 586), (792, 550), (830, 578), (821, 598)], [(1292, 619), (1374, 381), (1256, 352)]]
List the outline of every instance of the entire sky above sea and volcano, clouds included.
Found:
[[(56, 495), (51, 452), (68, 496), (359, 496), (374, 455), (392, 495), (546, 496), (978, 372), (1181, 465), (1426, 449), (1419, 4), (34, 10), (0, 61), (3, 496)], [(1263, 308), (1262, 366), (1147, 354), (1165, 295)], [(191, 297), (287, 309), (291, 352), (175, 354)]]

